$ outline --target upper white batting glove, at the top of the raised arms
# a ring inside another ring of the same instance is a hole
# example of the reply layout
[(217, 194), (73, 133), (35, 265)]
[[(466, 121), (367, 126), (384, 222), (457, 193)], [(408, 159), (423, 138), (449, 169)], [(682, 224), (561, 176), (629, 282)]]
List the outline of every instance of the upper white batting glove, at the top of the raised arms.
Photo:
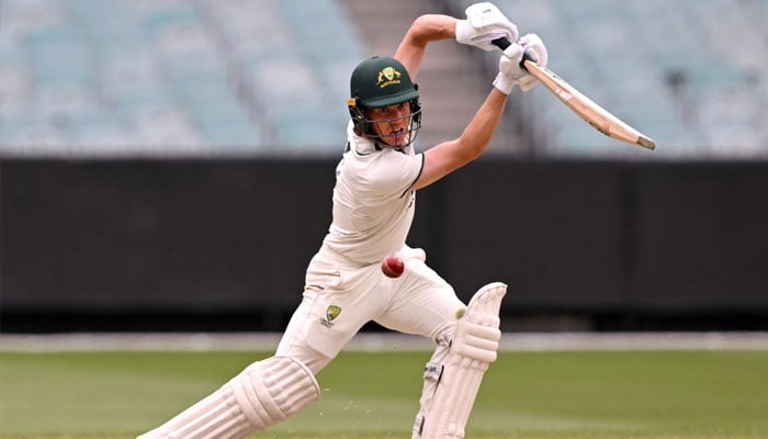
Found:
[(505, 37), (517, 41), (518, 29), (490, 2), (475, 3), (466, 8), (466, 20), (456, 21), (456, 41), (490, 52), (492, 41)]

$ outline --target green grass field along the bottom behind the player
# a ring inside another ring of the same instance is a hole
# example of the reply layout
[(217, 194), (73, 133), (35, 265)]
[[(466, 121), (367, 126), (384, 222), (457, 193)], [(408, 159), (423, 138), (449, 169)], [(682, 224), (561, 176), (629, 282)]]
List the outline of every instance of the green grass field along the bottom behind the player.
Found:
[[(268, 353), (0, 353), (0, 438), (133, 438)], [(345, 352), (259, 438), (410, 437), (427, 352)], [(768, 438), (768, 351), (505, 352), (467, 438)]]

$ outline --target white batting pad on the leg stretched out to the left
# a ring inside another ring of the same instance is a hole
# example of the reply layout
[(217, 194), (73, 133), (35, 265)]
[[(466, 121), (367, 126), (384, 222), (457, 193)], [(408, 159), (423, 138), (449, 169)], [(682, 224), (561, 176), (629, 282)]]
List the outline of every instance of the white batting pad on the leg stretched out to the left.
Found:
[(317, 401), (320, 389), (291, 357), (257, 361), (219, 390), (137, 439), (242, 439)]

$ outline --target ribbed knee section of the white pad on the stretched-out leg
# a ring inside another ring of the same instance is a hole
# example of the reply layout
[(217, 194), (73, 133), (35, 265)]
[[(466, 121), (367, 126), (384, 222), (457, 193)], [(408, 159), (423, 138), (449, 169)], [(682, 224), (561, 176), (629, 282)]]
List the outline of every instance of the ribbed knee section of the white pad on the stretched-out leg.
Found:
[(292, 357), (257, 361), (230, 384), (237, 405), (257, 430), (287, 419), (320, 396), (315, 375)]

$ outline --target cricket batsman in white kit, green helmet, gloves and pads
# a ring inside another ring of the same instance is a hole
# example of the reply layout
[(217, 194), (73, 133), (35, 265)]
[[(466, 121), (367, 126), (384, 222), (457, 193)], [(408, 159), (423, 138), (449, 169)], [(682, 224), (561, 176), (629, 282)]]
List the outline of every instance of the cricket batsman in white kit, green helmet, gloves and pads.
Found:
[[(499, 37), (513, 43), (500, 56), (493, 87), (463, 133), (416, 151), (421, 106), (415, 80), (427, 45), (455, 40), (490, 52)], [(461, 20), (421, 15), (394, 57), (374, 56), (357, 66), (350, 79), (347, 145), (336, 168), (332, 222), (309, 262), (302, 302), (275, 354), (253, 362), (139, 439), (245, 438), (289, 418), (320, 396), (315, 375), (371, 320), (434, 341), (413, 438), (464, 437), (483, 374), (496, 360), (507, 285), (489, 283), (465, 305), (426, 263), (425, 251), (406, 245), (406, 237), (417, 191), (479, 157), (512, 89), (528, 91), (537, 85), (520, 68), (523, 54), (546, 66), (542, 41), (533, 34), (518, 38), (517, 26), (484, 2), (467, 8)], [(482, 218), (477, 227), (483, 227)], [(391, 255), (403, 261), (396, 277), (382, 272), (382, 260)]]

